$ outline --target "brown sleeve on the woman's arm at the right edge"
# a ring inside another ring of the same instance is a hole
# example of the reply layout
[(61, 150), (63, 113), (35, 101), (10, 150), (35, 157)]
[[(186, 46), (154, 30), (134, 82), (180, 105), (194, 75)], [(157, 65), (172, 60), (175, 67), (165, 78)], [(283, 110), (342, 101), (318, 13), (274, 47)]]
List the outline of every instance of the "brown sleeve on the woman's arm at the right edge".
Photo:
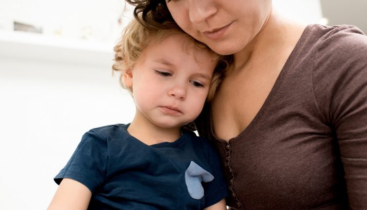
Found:
[(314, 61), (315, 99), (335, 130), (349, 208), (367, 209), (367, 37), (353, 26), (335, 27)]

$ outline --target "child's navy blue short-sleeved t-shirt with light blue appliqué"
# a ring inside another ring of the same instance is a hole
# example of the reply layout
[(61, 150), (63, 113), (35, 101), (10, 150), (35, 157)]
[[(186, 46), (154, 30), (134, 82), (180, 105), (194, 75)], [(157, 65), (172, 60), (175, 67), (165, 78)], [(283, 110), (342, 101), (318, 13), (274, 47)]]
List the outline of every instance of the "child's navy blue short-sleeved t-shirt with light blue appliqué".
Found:
[(201, 210), (228, 195), (219, 157), (208, 142), (182, 129), (173, 143), (145, 145), (128, 125), (85, 133), (54, 178), (92, 191), (88, 209)]

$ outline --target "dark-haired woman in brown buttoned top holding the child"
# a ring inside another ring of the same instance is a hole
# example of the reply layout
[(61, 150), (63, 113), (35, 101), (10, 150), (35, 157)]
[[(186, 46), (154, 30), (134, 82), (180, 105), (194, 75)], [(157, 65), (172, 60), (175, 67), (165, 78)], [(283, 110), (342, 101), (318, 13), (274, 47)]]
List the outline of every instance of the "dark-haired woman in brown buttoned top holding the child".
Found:
[(176, 22), (232, 55), (196, 126), (221, 154), (227, 205), (367, 209), (367, 37), (302, 25), (271, 0), (127, 0), (147, 27)]

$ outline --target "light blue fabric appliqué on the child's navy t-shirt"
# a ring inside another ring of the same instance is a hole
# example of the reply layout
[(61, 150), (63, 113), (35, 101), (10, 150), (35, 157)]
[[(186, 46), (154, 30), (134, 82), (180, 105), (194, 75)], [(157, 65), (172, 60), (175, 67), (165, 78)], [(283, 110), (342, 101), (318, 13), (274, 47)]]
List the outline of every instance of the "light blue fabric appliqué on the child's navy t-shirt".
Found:
[(194, 199), (201, 199), (204, 196), (204, 188), (201, 182), (210, 182), (214, 176), (201, 168), (194, 161), (191, 161), (190, 166), (185, 172), (185, 182), (188, 193)]

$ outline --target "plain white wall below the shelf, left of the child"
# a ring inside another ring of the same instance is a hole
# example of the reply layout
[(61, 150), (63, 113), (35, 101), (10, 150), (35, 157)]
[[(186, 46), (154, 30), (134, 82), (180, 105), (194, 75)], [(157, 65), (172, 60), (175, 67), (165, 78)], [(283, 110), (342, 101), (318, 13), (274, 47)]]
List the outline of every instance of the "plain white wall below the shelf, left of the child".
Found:
[(46, 209), (84, 132), (129, 123), (130, 95), (110, 66), (0, 60), (1, 209)]

